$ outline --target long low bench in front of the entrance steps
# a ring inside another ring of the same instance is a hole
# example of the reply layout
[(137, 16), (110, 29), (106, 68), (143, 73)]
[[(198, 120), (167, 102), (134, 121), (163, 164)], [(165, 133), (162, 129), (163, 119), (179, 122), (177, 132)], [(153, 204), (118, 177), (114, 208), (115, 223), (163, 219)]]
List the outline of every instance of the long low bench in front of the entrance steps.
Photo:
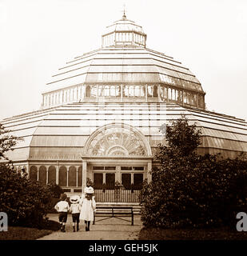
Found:
[[(110, 216), (109, 216), (110, 215)], [(125, 219), (125, 218), (119, 218), (119, 215), (121, 217), (131, 217), (131, 221)], [(96, 211), (94, 212), (94, 222), (95, 224), (96, 217), (106, 217), (107, 218), (118, 218), (126, 222), (131, 222), (131, 225), (133, 225), (133, 207), (125, 207), (125, 206), (98, 206), (96, 207)], [(98, 219), (97, 222), (103, 221), (107, 218), (101, 218)]]

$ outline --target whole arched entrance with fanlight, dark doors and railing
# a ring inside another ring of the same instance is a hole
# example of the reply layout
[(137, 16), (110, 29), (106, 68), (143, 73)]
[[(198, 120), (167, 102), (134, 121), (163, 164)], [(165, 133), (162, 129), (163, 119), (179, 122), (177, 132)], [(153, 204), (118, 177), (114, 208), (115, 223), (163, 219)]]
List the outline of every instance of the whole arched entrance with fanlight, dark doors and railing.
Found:
[(98, 202), (139, 201), (152, 163), (149, 142), (139, 130), (123, 123), (100, 127), (87, 140), (82, 159), (83, 180), (94, 182)]

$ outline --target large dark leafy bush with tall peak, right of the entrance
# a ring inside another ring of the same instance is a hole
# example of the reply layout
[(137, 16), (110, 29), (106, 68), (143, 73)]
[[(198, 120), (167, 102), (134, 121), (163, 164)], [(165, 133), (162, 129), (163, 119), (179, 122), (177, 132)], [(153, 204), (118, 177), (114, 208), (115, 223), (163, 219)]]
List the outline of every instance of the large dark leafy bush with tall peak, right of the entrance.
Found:
[[(246, 211), (245, 158), (195, 153), (200, 131), (185, 118), (167, 127), (168, 146), (160, 145), (152, 182), (141, 191), (141, 220), (164, 228), (236, 225), (236, 214)], [(191, 139), (190, 139), (191, 138)]]

